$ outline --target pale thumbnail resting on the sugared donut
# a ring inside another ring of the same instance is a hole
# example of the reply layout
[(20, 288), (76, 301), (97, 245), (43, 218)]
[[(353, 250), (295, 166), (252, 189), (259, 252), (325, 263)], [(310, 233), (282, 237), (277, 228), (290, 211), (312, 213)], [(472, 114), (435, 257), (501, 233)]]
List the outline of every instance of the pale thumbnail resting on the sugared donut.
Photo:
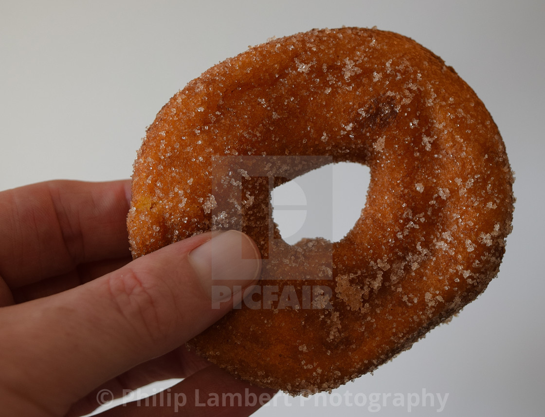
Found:
[(256, 244), (235, 230), (215, 234), (187, 257), (212, 301), (229, 299), (255, 281), (261, 270)]

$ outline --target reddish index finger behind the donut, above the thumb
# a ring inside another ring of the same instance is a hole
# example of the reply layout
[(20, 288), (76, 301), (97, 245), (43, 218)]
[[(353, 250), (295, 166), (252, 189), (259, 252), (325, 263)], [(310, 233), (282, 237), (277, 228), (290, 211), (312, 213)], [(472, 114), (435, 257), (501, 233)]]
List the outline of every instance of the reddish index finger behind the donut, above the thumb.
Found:
[(14, 288), (128, 256), (129, 200), (129, 180), (57, 180), (0, 192), (0, 276)]

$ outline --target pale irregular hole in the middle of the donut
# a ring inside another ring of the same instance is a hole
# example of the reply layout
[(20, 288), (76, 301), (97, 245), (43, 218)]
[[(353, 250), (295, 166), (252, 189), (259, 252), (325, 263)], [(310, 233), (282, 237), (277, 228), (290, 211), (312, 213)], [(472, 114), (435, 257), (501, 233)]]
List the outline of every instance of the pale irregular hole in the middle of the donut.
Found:
[(272, 219), (286, 243), (302, 238), (341, 240), (365, 207), (369, 167), (329, 164), (277, 186), (271, 192)]

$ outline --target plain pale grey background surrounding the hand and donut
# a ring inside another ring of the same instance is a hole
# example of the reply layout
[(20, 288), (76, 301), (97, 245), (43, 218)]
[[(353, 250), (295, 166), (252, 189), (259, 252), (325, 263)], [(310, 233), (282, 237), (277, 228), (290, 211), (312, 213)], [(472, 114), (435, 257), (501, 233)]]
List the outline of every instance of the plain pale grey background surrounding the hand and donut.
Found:
[[(0, 190), (55, 178), (128, 178), (146, 126), (189, 80), (272, 36), (343, 25), (402, 33), (452, 65), (500, 128), (516, 171), (518, 200), (500, 274), (487, 291), (374, 376), (336, 392), (407, 396), (426, 389), (449, 394), (440, 415), (545, 414), (545, 3), (540, 0), (4, 0)], [(336, 193), (349, 201), (350, 184), (335, 184)], [(359, 198), (356, 216), (364, 201)], [(344, 222), (335, 223), (341, 234), (355, 220), (342, 217)], [(406, 404), (386, 401), (375, 414), (407, 413)], [(256, 415), (369, 412), (368, 404), (288, 403)], [(437, 408), (436, 397), (435, 407), (428, 400), (411, 415), (437, 415)]]

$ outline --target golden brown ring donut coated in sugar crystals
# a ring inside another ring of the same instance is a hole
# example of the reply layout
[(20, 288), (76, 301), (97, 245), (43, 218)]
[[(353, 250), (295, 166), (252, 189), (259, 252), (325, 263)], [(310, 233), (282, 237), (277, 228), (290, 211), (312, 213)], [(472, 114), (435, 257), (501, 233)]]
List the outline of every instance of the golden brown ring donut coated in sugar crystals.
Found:
[[(271, 186), (338, 161), (370, 166), (361, 217), (341, 241), (286, 244)], [(249, 234), (259, 286), (190, 345), (258, 385), (331, 390), (486, 288), (512, 182), (498, 128), (441, 58), (396, 33), (313, 30), (215, 65), (161, 109), (134, 166), (130, 244), (138, 257), (210, 229)]]

